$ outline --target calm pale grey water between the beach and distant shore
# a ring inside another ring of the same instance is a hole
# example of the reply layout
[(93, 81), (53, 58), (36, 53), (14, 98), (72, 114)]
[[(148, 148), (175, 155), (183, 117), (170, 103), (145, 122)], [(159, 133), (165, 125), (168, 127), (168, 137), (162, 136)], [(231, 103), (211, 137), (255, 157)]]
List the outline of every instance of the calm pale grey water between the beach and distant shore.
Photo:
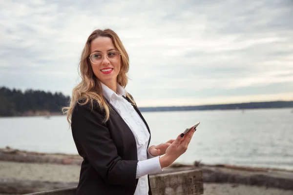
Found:
[[(176, 138), (201, 121), (188, 151), (176, 160), (293, 170), (292, 109), (143, 113), (151, 145)], [(77, 154), (66, 117), (0, 118), (0, 148)]]

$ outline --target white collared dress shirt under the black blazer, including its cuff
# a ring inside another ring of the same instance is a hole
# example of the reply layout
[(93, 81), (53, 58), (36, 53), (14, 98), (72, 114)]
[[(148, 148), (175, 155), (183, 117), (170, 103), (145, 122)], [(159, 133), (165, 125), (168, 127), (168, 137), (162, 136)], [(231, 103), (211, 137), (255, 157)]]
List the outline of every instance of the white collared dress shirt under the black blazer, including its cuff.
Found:
[(161, 173), (159, 156), (151, 156), (147, 150), (149, 133), (143, 119), (135, 111), (126, 97), (126, 90), (117, 83), (117, 94), (101, 82), (103, 95), (120, 114), (132, 131), (137, 147), (136, 178), (139, 178), (134, 195), (148, 195), (148, 174)]

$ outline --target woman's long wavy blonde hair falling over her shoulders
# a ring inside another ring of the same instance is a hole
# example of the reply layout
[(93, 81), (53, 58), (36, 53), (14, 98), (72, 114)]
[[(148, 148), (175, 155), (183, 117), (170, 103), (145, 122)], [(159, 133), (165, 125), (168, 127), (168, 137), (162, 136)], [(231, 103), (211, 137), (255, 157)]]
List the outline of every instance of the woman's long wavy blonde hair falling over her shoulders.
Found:
[[(95, 76), (89, 60), (91, 51), (90, 44), (98, 37), (108, 37), (112, 39), (115, 49), (121, 54), (121, 68), (117, 76), (117, 83), (125, 88), (128, 82), (126, 73), (129, 69), (129, 57), (118, 35), (111, 29), (98, 29), (93, 31), (86, 40), (79, 63), (79, 75), (82, 78), (82, 81), (72, 90), (70, 105), (62, 108), (63, 114), (67, 115), (69, 125), (71, 125), (71, 115), (77, 103), (84, 105), (90, 102), (91, 109), (93, 109), (95, 101), (105, 111), (105, 119), (103, 122), (106, 122), (110, 116), (109, 106), (102, 94), (100, 80)], [(135, 104), (134, 100), (128, 93), (126, 93), (126, 97), (131, 100), (132, 104)], [(80, 102), (80, 100), (83, 101)]]

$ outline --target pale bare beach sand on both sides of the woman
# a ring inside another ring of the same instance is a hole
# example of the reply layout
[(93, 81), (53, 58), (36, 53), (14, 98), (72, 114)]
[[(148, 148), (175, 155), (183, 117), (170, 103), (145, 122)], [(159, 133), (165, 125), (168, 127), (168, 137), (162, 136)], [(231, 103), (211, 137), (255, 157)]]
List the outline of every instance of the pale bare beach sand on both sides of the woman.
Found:
[[(80, 166), (0, 161), (0, 177), (40, 181), (74, 181)], [(204, 183), (204, 195), (293, 195), (293, 191), (231, 183)]]

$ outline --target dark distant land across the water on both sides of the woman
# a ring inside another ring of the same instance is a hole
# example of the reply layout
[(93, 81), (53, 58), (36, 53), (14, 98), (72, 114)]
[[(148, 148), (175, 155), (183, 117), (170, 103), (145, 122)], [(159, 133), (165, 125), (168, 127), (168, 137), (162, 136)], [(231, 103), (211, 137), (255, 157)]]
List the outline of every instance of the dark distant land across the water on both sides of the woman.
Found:
[[(69, 96), (62, 93), (28, 89), (24, 92), (0, 87), (0, 117), (60, 115), (61, 108), (68, 104)], [(228, 110), (256, 108), (293, 108), (293, 101), (270, 101), (202, 106), (140, 107), (141, 112)]]

